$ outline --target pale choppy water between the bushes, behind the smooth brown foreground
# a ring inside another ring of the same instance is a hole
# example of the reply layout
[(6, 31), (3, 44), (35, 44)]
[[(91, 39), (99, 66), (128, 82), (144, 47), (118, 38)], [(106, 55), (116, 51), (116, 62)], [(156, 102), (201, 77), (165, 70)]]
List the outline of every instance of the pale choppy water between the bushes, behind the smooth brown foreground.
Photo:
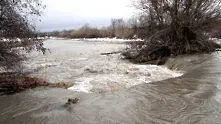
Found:
[(101, 55), (124, 49), (124, 43), (53, 39), (44, 44), (51, 53), (32, 53), (25, 63), (28, 69), (35, 70), (33, 76), (49, 82), (72, 83), (69, 90), (77, 92), (119, 91), (183, 74), (164, 66), (132, 64), (120, 54)]

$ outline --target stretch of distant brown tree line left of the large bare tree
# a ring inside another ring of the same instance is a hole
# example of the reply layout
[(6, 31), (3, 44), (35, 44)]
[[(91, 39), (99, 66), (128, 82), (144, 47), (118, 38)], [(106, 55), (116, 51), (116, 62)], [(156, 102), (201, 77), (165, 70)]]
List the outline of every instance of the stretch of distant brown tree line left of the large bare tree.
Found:
[(89, 24), (83, 25), (79, 29), (52, 31), (41, 33), (41, 36), (53, 36), (63, 38), (134, 38), (137, 33), (138, 19), (132, 17), (128, 20), (122, 18), (113, 18), (110, 20), (110, 25), (106, 27), (96, 28)]

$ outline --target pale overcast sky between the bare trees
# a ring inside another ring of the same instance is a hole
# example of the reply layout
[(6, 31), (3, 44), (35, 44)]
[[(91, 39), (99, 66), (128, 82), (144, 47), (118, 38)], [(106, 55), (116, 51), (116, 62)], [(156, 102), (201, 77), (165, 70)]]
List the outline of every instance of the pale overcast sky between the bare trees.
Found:
[(88, 23), (107, 26), (111, 18), (129, 18), (135, 14), (132, 0), (42, 0), (47, 6), (37, 24), (40, 31), (79, 28)]

